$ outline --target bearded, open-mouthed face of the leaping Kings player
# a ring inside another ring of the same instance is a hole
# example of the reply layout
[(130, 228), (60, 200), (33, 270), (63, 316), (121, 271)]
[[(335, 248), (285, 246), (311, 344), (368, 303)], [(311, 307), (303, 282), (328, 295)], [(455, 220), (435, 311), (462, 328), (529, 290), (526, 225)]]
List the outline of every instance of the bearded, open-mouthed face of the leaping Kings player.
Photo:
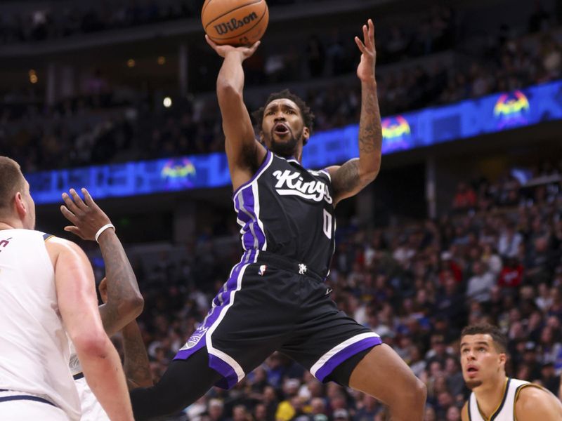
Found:
[(301, 110), (292, 100), (273, 100), (263, 111), (260, 135), (268, 149), (277, 155), (294, 156), (309, 133)]

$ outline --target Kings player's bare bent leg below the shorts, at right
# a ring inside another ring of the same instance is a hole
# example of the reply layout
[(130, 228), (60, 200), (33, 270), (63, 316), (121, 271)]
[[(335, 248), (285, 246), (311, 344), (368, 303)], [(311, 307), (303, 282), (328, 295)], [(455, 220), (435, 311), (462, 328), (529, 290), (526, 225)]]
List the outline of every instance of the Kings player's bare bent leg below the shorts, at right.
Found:
[(370, 350), (355, 366), (349, 386), (388, 405), (393, 421), (422, 420), (426, 387), (386, 344)]

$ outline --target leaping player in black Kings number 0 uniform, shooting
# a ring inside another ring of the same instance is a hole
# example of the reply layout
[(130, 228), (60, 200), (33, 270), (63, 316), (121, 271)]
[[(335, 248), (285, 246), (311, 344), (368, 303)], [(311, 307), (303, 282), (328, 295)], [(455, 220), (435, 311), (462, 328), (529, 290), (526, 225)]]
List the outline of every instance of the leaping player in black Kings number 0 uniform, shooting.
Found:
[(334, 206), (372, 182), (381, 165), (371, 20), (362, 32), (362, 41), (355, 37), (361, 52), (359, 157), (320, 171), (301, 166), (313, 114), (289, 91), (270, 95), (256, 112), (259, 140), (254, 137), (242, 97), (242, 62), (259, 42), (218, 46), (207, 37), (224, 59), (216, 90), (244, 254), (162, 380), (131, 392), (137, 420), (181, 410), (212, 385), (233, 387), (276, 350), (322, 382), (380, 399), (395, 421), (423, 417), (423, 383), (379, 335), (337, 309), (324, 283), (334, 253)]

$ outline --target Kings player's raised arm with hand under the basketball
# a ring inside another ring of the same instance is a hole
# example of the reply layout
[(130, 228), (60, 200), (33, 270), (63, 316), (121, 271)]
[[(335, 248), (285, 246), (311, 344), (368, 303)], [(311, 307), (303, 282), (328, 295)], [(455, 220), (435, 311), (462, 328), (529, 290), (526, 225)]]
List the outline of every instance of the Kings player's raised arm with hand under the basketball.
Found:
[(250, 47), (233, 47), (218, 46), (209, 36), (206, 35), (205, 38), (211, 48), (224, 59), (216, 79), (216, 95), (223, 118), (230, 178), (233, 188), (237, 189), (250, 180), (266, 156), (266, 148), (255, 138), (254, 127), (242, 95), (242, 62), (254, 54), (259, 41)]

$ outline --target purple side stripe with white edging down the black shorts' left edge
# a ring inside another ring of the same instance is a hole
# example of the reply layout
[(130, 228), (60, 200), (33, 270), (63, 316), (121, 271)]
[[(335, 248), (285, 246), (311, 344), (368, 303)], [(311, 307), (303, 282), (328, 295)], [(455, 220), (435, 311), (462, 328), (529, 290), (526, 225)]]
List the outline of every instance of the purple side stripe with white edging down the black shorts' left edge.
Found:
[[(188, 349), (180, 349), (174, 359), (188, 359), (194, 352), (207, 345), (207, 330), (213, 326), (218, 319), (218, 316), (230, 303), (230, 293), (237, 287), (240, 270), (244, 267), (244, 265), (247, 265), (247, 263), (254, 262), (255, 255), (256, 250), (249, 250), (247, 253), (244, 253), (242, 261), (234, 267), (230, 278), (228, 278), (228, 281), (226, 281), (226, 283), (218, 291), (216, 297), (213, 299), (213, 306), (209, 310), (209, 313), (207, 313), (207, 317), (205, 318), (202, 326), (197, 328), (197, 330), (195, 330), (188, 339), (187, 343), (190, 347)], [(246, 259), (247, 257), (248, 260)]]

